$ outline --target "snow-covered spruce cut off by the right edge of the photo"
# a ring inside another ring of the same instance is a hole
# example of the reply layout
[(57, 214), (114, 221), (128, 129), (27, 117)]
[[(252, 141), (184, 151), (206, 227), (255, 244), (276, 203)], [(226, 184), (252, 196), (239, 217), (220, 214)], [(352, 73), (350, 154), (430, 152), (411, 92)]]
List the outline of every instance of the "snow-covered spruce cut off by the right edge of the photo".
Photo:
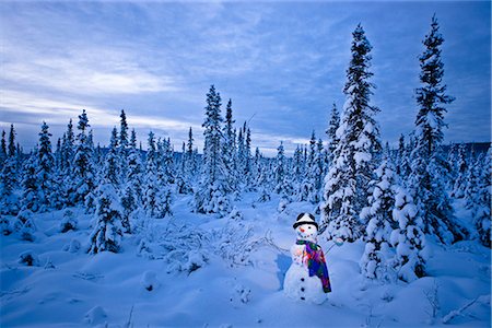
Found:
[(477, 229), (480, 243), (485, 247), (491, 247), (491, 161), (492, 149), (489, 148), (485, 157), (481, 164), (480, 178), (478, 180), (477, 194), (471, 208), (471, 215), (473, 216), (475, 226)]

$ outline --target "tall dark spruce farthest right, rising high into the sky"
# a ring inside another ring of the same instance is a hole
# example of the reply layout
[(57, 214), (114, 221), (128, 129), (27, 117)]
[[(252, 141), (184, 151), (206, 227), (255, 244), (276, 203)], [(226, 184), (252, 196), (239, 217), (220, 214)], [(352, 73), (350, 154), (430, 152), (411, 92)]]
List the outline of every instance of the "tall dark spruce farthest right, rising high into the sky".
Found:
[(446, 161), (441, 153), (444, 138), (444, 105), (454, 101), (446, 95), (442, 83), (444, 65), (441, 60), (441, 46), (444, 42), (438, 32), (435, 16), (432, 17), (431, 32), (425, 36), (425, 50), (420, 56), (420, 82), (417, 89), (419, 112), (415, 119), (415, 147), (412, 151), (411, 174), (408, 187), (423, 221), (423, 231), (435, 235), (446, 244), (462, 239), (466, 232), (454, 218), (450, 199), (445, 192)]

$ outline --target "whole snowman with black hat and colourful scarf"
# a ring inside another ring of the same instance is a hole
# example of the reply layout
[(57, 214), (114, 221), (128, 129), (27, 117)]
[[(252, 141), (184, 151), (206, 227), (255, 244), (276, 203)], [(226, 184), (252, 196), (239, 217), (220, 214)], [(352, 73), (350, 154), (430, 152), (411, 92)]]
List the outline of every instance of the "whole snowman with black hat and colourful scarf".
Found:
[(318, 224), (311, 213), (294, 223), (296, 243), (291, 247), (292, 265), (285, 273), (284, 293), (301, 302), (321, 304), (331, 292), (325, 255), (317, 244)]

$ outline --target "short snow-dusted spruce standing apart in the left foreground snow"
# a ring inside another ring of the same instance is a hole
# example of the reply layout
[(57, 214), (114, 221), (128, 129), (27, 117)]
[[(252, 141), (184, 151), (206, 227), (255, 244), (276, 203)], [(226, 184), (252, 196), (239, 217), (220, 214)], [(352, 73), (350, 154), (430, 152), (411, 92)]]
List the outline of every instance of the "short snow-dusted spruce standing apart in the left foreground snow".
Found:
[(103, 184), (97, 189), (99, 199), (94, 216), (95, 225), (90, 235), (90, 254), (99, 251), (118, 253), (120, 249), (122, 209), (112, 184)]

